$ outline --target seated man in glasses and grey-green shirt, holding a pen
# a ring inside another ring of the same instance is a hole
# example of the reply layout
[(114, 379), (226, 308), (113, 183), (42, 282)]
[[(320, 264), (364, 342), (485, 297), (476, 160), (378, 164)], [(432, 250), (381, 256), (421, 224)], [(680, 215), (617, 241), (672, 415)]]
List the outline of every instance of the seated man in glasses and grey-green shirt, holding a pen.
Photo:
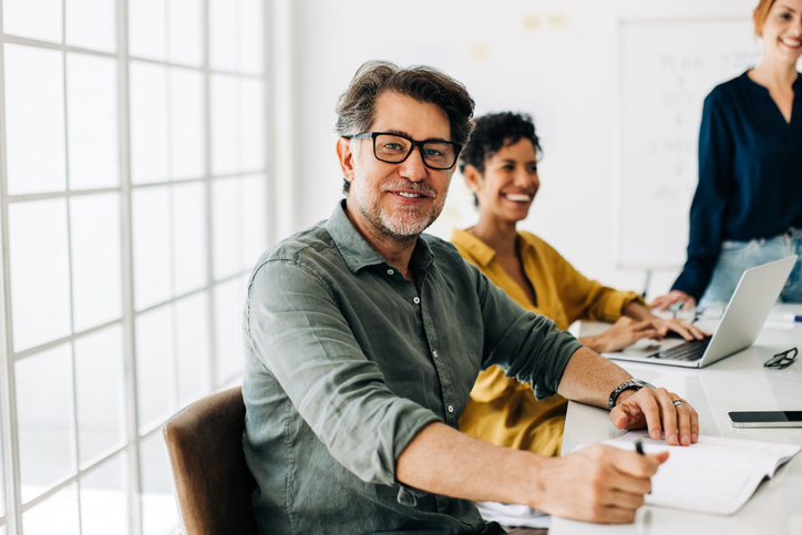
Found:
[(347, 198), (265, 253), (248, 284), (243, 445), (260, 532), (504, 533), (472, 501), (631, 522), (667, 454), (544, 457), (459, 431), (479, 370), (496, 364), (538, 398), (610, 407), (618, 429), (698, 435), (676, 394), (642, 388), (421, 234), (470, 134), (464, 86), (368, 62), (337, 112)]

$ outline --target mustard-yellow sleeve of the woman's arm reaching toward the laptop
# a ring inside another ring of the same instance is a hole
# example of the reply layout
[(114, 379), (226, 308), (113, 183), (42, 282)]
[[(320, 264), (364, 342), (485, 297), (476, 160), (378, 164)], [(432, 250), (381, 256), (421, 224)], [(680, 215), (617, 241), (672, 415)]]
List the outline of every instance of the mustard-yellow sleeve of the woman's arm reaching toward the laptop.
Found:
[(619, 291), (590, 280), (574, 269), (559, 253), (543, 243), (544, 253), (554, 269), (558, 294), (568, 316), (568, 322), (577, 319), (595, 321), (616, 321), (621, 317), (624, 307), (633, 301), (646, 306), (642, 298), (634, 291)]

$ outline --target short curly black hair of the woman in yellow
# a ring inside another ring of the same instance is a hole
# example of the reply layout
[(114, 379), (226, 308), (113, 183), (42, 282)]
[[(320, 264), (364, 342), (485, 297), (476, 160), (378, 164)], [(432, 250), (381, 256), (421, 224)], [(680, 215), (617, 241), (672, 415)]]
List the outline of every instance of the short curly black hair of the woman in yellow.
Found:
[(504, 145), (514, 145), (521, 138), (532, 142), (539, 157), (541, 144), (535, 134), (535, 123), (526, 113), (489, 113), (473, 122), (471, 140), (460, 153), (460, 173), (465, 173), (466, 165), (473, 165), (484, 173), (484, 163), (492, 158)]

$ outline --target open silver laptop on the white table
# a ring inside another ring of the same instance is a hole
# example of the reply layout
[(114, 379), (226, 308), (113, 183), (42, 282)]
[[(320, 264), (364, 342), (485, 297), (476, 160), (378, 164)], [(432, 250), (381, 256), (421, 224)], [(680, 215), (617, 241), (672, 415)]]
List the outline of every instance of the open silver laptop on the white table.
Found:
[(690, 342), (664, 339), (659, 344), (645, 341), (604, 356), (634, 362), (702, 368), (747, 349), (757, 340), (795, 261), (796, 255), (743, 271), (712, 338)]

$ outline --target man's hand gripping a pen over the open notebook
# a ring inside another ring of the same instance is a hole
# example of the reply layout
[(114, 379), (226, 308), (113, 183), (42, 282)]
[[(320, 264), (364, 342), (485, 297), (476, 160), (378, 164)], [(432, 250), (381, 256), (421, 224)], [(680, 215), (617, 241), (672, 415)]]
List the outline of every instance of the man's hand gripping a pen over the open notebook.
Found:
[(535, 506), (553, 515), (585, 522), (625, 524), (635, 521), (651, 492), (650, 477), (668, 452), (639, 455), (594, 444), (563, 457), (544, 461)]

